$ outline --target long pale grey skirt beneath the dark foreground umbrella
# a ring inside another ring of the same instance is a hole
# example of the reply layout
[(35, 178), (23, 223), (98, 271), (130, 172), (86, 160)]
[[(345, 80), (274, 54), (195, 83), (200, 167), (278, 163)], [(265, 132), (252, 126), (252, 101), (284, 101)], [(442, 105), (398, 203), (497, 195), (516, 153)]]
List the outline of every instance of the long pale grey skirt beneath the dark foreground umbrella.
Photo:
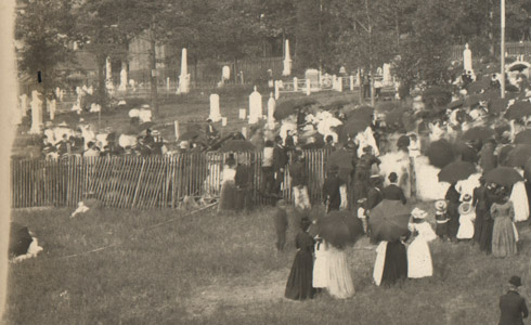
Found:
[(328, 250), (328, 292), (331, 296), (338, 299), (354, 296), (354, 284), (345, 250), (332, 247)]

